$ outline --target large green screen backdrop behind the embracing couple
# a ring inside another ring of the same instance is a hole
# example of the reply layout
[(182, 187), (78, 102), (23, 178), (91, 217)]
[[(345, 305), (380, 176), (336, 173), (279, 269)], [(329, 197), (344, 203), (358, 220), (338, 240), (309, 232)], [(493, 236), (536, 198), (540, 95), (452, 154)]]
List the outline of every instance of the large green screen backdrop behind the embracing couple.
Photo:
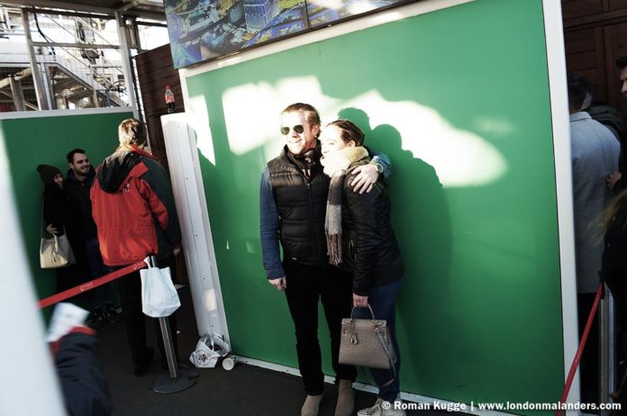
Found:
[[(453, 183), (442, 177), (476, 173), (452, 156), (434, 167), (415, 150), (447, 158), (439, 152), (450, 138), (433, 138), (431, 126), (407, 120), (412, 129), (401, 135), (398, 126), (372, 123), (373, 112), (323, 113), (327, 122), (358, 122), (368, 146), (393, 161), (393, 218), (406, 264), (397, 303), (402, 389), (453, 402), (556, 402), (564, 371), (541, 1), (477, 0), (188, 78), (213, 136), (198, 145), (233, 348), (286, 366), (297, 366), (294, 330), (261, 265), (259, 178), (278, 153), (278, 113), (290, 103), (277, 105), (274, 119), (250, 122), (245, 111), (227, 116), (225, 97), (312, 77), (341, 103), (374, 89), (388, 103), (420, 104), (502, 158), (493, 180)], [(227, 131), (241, 123), (268, 131), (273, 151), (232, 149), (241, 138)], [(475, 170), (485, 163), (477, 153)]]

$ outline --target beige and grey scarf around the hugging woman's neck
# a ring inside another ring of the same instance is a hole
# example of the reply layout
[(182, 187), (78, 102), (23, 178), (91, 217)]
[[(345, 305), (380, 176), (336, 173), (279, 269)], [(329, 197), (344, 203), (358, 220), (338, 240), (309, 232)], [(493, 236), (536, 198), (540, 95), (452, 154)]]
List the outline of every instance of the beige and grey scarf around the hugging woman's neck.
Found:
[(355, 147), (338, 150), (320, 159), (324, 173), (331, 177), (324, 231), (327, 236), (329, 263), (334, 266), (341, 263), (341, 194), (346, 169), (353, 163), (367, 158), (366, 148)]

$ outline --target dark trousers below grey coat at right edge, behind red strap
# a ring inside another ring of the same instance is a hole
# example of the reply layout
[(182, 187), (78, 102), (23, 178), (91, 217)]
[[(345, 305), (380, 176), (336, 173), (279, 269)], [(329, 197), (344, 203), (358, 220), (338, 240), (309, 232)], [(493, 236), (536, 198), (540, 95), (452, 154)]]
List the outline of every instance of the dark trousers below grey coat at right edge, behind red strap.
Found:
[[(590, 309), (595, 303), (596, 294), (577, 294), (577, 312), (579, 319), (579, 339), (586, 329)], [(586, 348), (581, 356), (579, 379), (581, 380), (581, 398), (583, 402), (598, 402), (599, 399), (599, 313), (590, 328)]]

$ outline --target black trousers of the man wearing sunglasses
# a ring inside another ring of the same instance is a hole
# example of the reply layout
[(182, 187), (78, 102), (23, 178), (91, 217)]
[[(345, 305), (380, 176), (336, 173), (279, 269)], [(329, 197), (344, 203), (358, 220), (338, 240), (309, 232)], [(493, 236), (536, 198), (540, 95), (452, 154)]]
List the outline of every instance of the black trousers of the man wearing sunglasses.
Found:
[(304, 266), (286, 263), (286, 298), (296, 332), (298, 368), (303, 376), (304, 391), (318, 395), (324, 391), (324, 375), (318, 342), (318, 302), (322, 300), (324, 316), (331, 334), (331, 357), (335, 381), (355, 380), (354, 366), (338, 363), (341, 319), (350, 316), (352, 283), (349, 274), (337, 267)]

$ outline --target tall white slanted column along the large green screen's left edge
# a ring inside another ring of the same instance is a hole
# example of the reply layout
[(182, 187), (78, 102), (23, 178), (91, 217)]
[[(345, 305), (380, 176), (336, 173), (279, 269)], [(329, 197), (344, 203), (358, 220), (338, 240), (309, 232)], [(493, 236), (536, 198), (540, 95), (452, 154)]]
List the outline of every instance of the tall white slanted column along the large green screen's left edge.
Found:
[(212, 330), (229, 340), (195, 131), (187, 122), (186, 113), (161, 116), (161, 125), (183, 233), (198, 334)]

